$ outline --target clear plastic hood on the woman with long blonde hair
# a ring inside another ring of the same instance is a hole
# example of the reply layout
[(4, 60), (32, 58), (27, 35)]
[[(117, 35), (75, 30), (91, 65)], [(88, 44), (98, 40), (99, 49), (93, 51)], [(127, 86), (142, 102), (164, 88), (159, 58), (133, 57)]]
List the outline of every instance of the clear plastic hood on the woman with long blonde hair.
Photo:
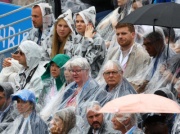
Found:
[(71, 29), (71, 32), (73, 34), (75, 34), (75, 26), (74, 26), (74, 22), (72, 19), (72, 11), (69, 9), (67, 10), (65, 13), (61, 14), (57, 19), (56, 19), (56, 23), (58, 22), (59, 19), (64, 19), (66, 21), (66, 23), (68, 24), (69, 28)]

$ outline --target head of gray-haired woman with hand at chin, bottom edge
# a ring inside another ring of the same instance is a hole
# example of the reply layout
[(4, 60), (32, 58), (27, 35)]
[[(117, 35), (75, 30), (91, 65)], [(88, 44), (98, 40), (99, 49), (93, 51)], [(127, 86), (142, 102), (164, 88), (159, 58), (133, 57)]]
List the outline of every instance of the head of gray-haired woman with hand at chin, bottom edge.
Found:
[(74, 127), (76, 127), (74, 107), (68, 107), (57, 111), (50, 122), (51, 134), (69, 134)]

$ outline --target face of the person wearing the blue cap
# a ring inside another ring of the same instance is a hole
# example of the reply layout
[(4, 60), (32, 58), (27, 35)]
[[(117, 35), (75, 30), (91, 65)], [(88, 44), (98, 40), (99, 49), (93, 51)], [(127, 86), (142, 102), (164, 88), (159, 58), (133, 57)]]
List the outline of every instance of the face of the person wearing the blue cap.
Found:
[(17, 110), (20, 114), (30, 114), (33, 110), (33, 105), (27, 101), (23, 101), (20, 98), (17, 99)]

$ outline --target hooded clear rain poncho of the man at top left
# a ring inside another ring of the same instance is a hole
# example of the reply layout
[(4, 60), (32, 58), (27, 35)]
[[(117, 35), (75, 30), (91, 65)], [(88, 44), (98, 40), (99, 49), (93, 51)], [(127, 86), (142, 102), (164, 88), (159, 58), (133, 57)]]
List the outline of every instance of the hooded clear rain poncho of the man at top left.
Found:
[(32, 28), (23, 41), (32, 40), (36, 42), (39, 46), (41, 46), (42, 60), (49, 60), (47, 44), (43, 43), (43, 41), (50, 33), (51, 27), (54, 23), (54, 15), (52, 12), (52, 7), (48, 3), (39, 3), (37, 5), (40, 7), (42, 12), (42, 31), (39, 28)]

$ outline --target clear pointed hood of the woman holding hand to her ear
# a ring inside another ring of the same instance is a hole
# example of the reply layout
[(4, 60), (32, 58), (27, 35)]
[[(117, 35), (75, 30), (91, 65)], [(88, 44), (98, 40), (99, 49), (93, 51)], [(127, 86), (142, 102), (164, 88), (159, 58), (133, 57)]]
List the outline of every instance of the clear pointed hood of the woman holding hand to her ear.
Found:
[(88, 9), (85, 9), (79, 13), (76, 13), (74, 16), (74, 20), (76, 20), (76, 16), (79, 14), (83, 20), (84, 23), (87, 25), (88, 23), (92, 23), (93, 26), (95, 27), (95, 21), (96, 21), (96, 9), (94, 6), (89, 7)]

